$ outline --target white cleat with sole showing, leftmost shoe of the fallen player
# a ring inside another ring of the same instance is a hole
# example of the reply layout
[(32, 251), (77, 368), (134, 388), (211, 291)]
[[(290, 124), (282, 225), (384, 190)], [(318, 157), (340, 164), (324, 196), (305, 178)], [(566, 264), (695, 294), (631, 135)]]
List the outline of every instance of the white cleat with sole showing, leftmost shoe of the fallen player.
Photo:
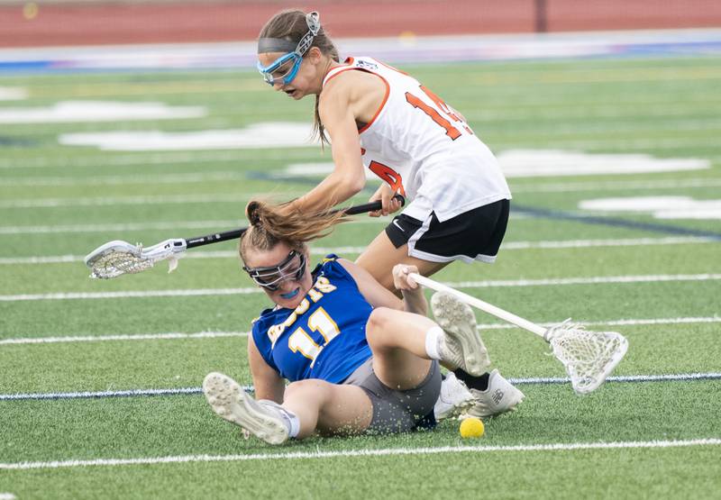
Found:
[(256, 401), (233, 378), (216, 372), (205, 376), (203, 393), (214, 412), (228, 422), (237, 423), (269, 444), (287, 441), (289, 417), (277, 403)]

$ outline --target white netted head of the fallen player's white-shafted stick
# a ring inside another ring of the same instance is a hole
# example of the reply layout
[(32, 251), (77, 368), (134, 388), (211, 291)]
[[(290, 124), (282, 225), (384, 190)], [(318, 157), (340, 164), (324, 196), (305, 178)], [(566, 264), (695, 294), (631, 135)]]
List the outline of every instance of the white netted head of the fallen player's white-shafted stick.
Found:
[(617, 332), (589, 332), (569, 320), (543, 336), (553, 356), (563, 363), (576, 394), (589, 394), (603, 384), (628, 350), (628, 341)]

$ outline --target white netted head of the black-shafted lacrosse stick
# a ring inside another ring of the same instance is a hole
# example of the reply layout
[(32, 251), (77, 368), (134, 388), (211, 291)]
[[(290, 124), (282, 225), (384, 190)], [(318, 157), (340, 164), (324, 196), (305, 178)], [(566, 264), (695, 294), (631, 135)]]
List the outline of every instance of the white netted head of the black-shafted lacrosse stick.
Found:
[(85, 263), (91, 270), (90, 277), (102, 279), (140, 273), (152, 268), (157, 261), (166, 259), (170, 259), (170, 272), (178, 266), (178, 254), (186, 248), (187, 242), (182, 239), (162, 241), (147, 249), (143, 249), (141, 244), (115, 240), (90, 252)]

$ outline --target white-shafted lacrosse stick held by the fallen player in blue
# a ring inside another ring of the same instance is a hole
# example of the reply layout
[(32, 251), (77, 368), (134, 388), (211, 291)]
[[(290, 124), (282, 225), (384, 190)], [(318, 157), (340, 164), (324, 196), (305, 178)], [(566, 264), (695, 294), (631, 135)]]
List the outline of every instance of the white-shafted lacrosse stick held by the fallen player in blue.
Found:
[(500, 307), (490, 305), (428, 277), (416, 273), (410, 273), (408, 277), (413, 278), (420, 285), (432, 288), (437, 292), (451, 294), (465, 304), (477, 307), (481, 311), (493, 314), (497, 318), (543, 337), (544, 341), (551, 344), (553, 356), (566, 368), (570, 377), (570, 385), (573, 386), (576, 394), (589, 394), (603, 384), (606, 377), (624, 358), (625, 351), (628, 349), (628, 341), (620, 333), (589, 332), (582, 325), (570, 323), (570, 319), (545, 329), (516, 316), (516, 314), (508, 313)]

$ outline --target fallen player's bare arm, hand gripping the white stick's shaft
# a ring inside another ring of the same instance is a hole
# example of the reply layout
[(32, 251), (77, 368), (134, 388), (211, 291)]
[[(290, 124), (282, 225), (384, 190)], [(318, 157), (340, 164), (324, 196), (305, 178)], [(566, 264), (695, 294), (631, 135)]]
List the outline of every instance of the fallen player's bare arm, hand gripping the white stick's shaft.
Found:
[[(360, 294), (373, 307), (388, 307), (424, 316), (428, 314), (428, 303), (425, 301), (423, 289), (407, 277), (409, 272), (418, 272), (415, 266), (397, 265), (393, 268), (394, 284), (403, 294), (401, 300), (376, 281), (376, 278), (372, 277), (364, 268), (346, 259), (338, 259), (338, 262), (353, 277)], [(404, 271), (404, 268), (408, 269), (407, 272)]]

